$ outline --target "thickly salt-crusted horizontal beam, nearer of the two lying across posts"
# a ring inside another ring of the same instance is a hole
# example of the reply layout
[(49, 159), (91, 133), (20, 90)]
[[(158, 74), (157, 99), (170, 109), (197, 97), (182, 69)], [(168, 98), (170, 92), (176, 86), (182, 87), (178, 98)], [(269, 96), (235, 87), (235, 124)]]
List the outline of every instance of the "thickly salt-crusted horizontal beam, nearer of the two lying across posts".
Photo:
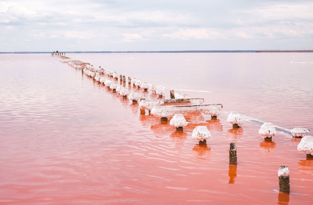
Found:
[(222, 104), (163, 105), (163, 106), (154, 106), (151, 109), (151, 114), (159, 117), (168, 118), (177, 113), (185, 114), (196, 111), (212, 115), (213, 110), (216, 111), (214, 115), (219, 115), (219, 110), (222, 107), (223, 107)]

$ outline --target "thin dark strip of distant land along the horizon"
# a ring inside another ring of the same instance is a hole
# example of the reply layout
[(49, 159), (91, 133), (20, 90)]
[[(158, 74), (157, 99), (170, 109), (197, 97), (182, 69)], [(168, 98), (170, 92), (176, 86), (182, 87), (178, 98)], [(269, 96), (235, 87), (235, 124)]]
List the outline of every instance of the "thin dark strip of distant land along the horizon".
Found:
[[(53, 51), (16, 51), (0, 52), (0, 54), (51, 53)], [(313, 52), (313, 50), (159, 50), (159, 51), (58, 51), (65, 53), (181, 53), (181, 52)]]

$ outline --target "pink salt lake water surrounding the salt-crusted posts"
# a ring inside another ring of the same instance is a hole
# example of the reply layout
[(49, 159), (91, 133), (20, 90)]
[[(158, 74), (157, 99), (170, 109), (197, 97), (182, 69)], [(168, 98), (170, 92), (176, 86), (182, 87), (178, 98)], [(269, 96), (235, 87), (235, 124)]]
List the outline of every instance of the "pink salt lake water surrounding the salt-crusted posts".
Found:
[[(287, 129), (313, 130), (311, 53), (68, 54), (205, 103), (182, 133), (49, 54), (0, 55), (0, 204), (310, 204), (313, 160)], [(130, 88), (134, 89), (134, 88)], [(142, 92), (142, 90), (137, 90)], [(147, 98), (155, 96), (145, 93)], [(230, 111), (246, 116), (239, 129)], [(262, 122), (281, 127), (272, 142)], [(191, 139), (196, 125), (212, 134)], [(310, 135), (311, 132), (309, 133)], [(238, 163), (229, 164), (236, 142)], [(290, 193), (277, 170), (288, 165)]]

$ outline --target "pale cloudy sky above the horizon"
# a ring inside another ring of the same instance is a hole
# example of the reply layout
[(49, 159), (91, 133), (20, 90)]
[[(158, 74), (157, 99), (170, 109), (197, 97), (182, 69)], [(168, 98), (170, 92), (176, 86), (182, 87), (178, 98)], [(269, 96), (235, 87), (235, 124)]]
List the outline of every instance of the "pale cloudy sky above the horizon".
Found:
[(313, 0), (0, 0), (0, 51), (313, 49)]

